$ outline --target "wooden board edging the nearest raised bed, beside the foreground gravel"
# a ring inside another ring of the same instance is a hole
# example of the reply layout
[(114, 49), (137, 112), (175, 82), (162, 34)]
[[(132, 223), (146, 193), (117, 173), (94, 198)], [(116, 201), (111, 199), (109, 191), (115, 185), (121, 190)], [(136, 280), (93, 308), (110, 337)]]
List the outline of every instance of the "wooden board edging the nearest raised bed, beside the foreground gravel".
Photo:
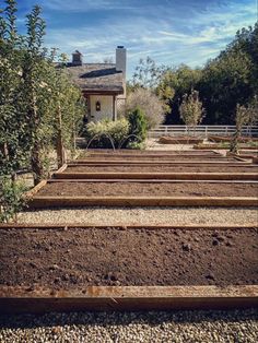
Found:
[(258, 307), (258, 285), (87, 286), (75, 291), (0, 287), (2, 314), (81, 310), (230, 309)]

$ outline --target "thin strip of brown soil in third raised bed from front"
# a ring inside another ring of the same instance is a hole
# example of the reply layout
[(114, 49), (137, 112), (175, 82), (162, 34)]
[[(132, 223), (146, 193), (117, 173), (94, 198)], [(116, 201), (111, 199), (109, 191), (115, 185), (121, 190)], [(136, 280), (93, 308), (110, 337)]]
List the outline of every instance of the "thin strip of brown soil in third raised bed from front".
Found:
[(69, 166), (64, 173), (258, 173), (258, 167), (227, 166)]

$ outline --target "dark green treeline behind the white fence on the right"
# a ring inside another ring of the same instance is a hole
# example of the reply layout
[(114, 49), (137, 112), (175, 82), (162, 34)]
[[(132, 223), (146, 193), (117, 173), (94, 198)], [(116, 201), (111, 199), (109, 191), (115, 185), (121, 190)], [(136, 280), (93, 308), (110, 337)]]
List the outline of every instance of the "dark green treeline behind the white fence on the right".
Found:
[(183, 123), (179, 107), (195, 90), (206, 109), (203, 125), (234, 125), (237, 104), (248, 106), (258, 95), (258, 24), (238, 31), (202, 69), (157, 67), (151, 58), (141, 60), (128, 84), (129, 92), (138, 87), (151, 88), (165, 102), (165, 123)]

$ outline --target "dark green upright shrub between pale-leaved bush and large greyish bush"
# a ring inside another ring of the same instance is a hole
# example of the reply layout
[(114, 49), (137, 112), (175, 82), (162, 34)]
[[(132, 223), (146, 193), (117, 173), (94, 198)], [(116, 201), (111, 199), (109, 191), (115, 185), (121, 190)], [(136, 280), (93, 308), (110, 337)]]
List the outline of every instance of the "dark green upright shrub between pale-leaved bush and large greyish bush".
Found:
[(144, 111), (140, 107), (137, 107), (127, 114), (127, 119), (130, 125), (129, 135), (131, 135), (129, 142), (143, 142), (146, 139), (148, 126)]

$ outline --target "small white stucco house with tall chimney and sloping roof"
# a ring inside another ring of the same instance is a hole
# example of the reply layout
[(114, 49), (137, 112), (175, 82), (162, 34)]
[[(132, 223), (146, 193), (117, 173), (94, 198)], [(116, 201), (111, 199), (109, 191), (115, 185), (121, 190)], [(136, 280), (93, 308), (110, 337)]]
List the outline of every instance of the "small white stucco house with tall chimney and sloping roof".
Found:
[(116, 63), (84, 63), (82, 54), (77, 50), (67, 67), (86, 99), (87, 120), (116, 120), (117, 109), (126, 102), (126, 48), (117, 47)]

